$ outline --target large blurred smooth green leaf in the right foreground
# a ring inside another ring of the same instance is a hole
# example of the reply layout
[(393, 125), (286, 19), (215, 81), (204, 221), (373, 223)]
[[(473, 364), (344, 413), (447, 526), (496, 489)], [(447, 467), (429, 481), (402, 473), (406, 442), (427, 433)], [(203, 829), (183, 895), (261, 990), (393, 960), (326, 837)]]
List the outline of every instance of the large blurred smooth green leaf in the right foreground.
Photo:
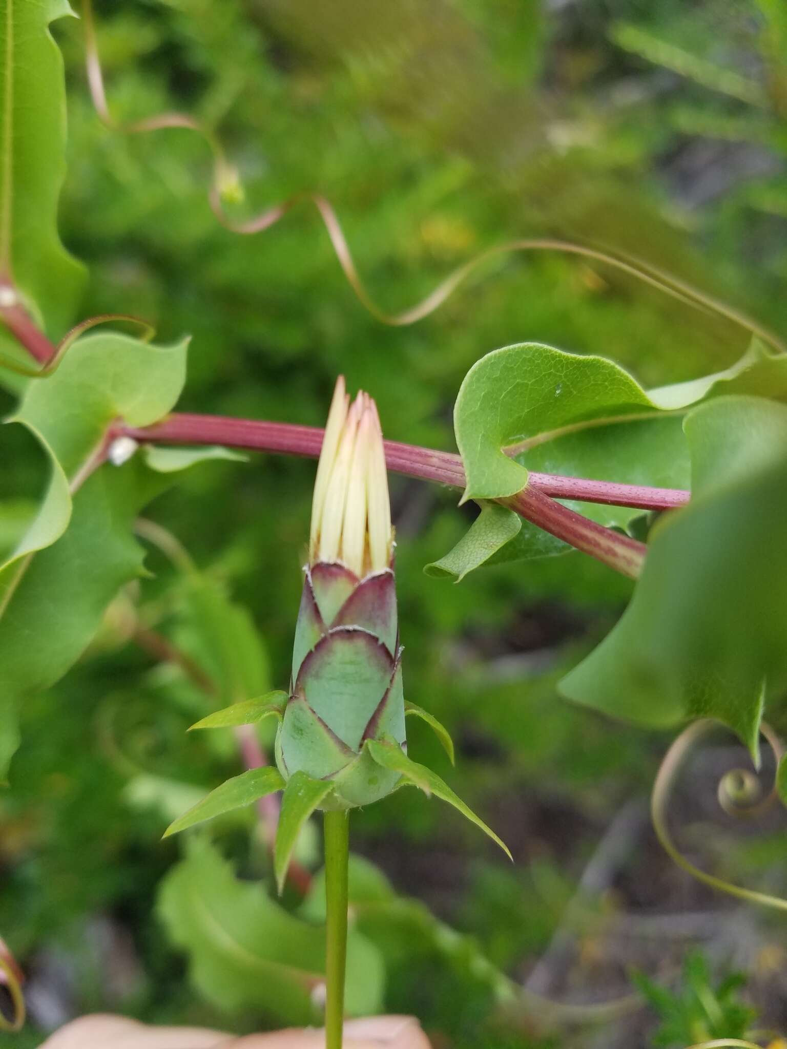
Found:
[(757, 759), (763, 683), (787, 684), (787, 407), (724, 398), (685, 430), (692, 502), (655, 527), (631, 604), (560, 690), (645, 725), (716, 718)]

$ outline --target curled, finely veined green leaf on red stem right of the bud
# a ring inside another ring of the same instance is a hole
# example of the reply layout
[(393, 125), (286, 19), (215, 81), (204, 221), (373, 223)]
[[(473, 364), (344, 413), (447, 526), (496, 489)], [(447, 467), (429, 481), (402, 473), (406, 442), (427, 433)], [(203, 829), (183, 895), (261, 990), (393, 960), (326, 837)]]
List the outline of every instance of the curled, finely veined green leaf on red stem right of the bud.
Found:
[[(528, 470), (688, 488), (682, 415), (701, 400), (730, 393), (787, 400), (787, 355), (756, 340), (725, 371), (646, 392), (603, 358), (538, 343), (494, 350), (470, 369), (454, 407), (456, 444), (467, 474), (464, 497), (512, 495), (525, 486)], [(566, 505), (612, 528), (628, 529), (640, 514), (629, 507)], [(448, 555), (449, 570), (461, 547)], [(563, 552), (565, 544), (525, 524), (486, 563)], [(462, 563), (466, 571), (473, 566)]]

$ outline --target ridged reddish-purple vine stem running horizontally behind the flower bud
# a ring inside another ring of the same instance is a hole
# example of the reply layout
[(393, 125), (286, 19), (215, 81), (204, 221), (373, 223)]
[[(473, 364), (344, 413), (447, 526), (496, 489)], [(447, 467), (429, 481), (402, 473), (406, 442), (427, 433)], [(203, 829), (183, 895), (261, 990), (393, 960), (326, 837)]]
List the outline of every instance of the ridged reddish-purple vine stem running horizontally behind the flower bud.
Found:
[[(126, 434), (136, 441), (175, 445), (228, 445), (232, 448), (283, 452), (307, 458), (317, 458), (320, 454), (322, 433), (315, 426), (186, 413), (172, 414), (164, 422), (145, 429), (123, 426), (114, 430), (114, 435)], [(462, 458), (452, 452), (386, 441), (385, 458), (388, 469), (397, 473), (437, 480), (452, 488), (465, 487)], [(560, 499), (633, 507), (638, 510), (672, 510), (685, 505), (689, 498), (689, 493), (683, 489), (620, 485), (611, 480), (565, 477), (535, 471), (529, 474), (528, 487)]]

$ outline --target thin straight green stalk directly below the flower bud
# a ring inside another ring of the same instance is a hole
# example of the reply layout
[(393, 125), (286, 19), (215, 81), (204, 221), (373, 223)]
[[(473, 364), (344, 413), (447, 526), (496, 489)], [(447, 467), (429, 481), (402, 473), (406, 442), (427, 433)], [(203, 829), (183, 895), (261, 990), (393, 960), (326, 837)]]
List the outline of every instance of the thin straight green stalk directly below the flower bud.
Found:
[(349, 816), (325, 813), (325, 1049), (342, 1049), (347, 958)]

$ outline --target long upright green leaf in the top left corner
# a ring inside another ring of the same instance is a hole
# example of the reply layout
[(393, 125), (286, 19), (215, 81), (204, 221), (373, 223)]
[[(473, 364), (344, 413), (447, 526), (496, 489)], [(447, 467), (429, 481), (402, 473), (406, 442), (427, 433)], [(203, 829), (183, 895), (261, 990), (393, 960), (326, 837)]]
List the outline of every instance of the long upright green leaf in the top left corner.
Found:
[[(63, 60), (49, 23), (72, 14), (66, 0), (0, 3), (0, 273), (26, 308), (59, 338), (84, 281), (58, 237), (65, 176)], [(0, 325), (0, 348), (19, 348)]]

